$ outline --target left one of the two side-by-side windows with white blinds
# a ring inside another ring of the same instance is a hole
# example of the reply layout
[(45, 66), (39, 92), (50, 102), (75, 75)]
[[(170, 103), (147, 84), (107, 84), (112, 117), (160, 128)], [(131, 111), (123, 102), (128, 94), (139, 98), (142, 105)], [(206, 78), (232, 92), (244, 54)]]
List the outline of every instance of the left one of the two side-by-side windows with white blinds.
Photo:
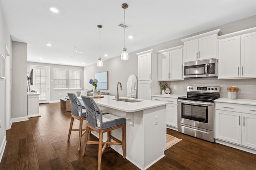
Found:
[(67, 69), (54, 69), (54, 89), (68, 89)]

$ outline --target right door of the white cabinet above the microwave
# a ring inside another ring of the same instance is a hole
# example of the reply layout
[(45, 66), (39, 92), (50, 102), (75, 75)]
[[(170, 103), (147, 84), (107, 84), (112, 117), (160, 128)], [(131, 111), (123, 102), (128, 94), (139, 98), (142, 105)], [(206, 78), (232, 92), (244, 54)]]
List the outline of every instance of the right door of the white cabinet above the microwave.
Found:
[(199, 38), (198, 43), (198, 58), (200, 60), (216, 58), (217, 34)]

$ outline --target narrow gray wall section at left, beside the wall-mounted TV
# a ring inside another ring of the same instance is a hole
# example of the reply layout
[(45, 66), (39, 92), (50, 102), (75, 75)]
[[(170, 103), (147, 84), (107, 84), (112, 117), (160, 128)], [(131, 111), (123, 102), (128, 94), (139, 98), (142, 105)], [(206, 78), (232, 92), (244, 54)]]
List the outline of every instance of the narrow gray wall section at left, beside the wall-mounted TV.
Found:
[(28, 116), (27, 43), (12, 41), (12, 119)]

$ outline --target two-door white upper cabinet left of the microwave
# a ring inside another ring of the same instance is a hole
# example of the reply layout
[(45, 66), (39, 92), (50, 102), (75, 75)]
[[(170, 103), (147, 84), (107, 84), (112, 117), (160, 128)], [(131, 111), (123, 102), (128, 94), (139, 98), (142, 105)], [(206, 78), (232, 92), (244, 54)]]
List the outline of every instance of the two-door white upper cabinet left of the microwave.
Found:
[(183, 80), (183, 47), (164, 49), (158, 53), (158, 81)]

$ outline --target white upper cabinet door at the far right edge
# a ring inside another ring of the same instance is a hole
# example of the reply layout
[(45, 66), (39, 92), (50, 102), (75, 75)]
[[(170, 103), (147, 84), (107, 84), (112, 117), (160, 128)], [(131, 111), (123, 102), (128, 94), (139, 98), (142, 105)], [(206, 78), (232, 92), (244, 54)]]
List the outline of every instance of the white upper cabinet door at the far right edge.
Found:
[(256, 77), (256, 32), (241, 36), (242, 77)]

